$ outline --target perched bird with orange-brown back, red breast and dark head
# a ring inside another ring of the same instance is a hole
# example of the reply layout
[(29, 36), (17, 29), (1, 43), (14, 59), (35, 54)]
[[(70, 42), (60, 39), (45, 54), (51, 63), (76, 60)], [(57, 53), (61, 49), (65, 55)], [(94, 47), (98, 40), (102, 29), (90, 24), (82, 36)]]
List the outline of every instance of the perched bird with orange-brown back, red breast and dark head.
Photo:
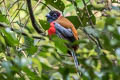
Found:
[[(69, 21), (64, 16), (62, 16), (60, 12), (56, 10), (52, 10), (46, 15), (46, 17), (47, 17), (47, 21), (50, 23), (50, 27), (48, 29), (48, 35), (50, 37), (52, 35), (57, 35), (59, 38), (68, 40), (71, 43), (79, 39), (77, 30), (72, 24), (72, 22)], [(77, 49), (78, 49), (78, 45), (73, 45), (71, 50), (68, 50), (68, 53), (73, 57), (76, 70), (80, 75), (78, 69), (79, 62), (75, 54), (75, 51)]]

